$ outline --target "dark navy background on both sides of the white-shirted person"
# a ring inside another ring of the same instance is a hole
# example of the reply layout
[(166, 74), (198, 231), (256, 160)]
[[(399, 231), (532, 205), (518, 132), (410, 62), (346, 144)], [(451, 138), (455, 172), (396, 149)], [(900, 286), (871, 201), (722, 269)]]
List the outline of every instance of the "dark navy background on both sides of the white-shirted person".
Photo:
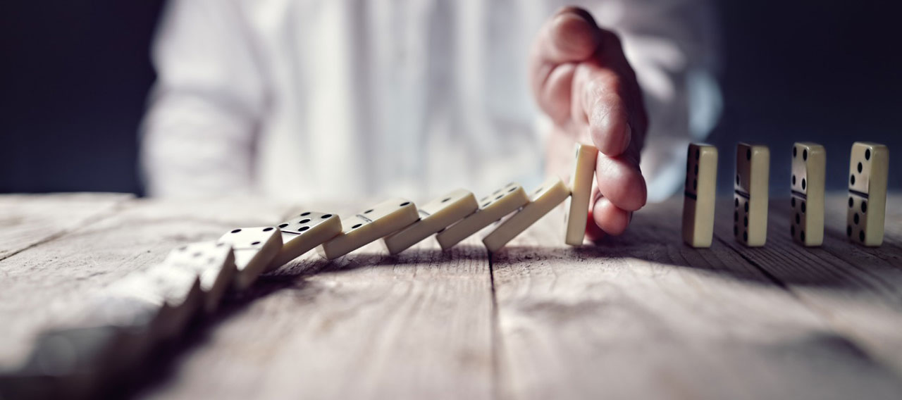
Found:
[[(162, 1), (2, 3), (0, 193), (140, 194), (137, 130)], [(852, 141), (902, 150), (898, 11), (823, 0), (721, 2), (724, 114), (709, 141), (722, 151), (722, 192), (732, 190), (736, 141), (770, 146), (775, 195), (788, 195), (793, 141), (824, 144), (831, 189), (845, 188)], [(891, 170), (902, 162), (890, 158)], [(902, 188), (902, 173), (889, 179)]]

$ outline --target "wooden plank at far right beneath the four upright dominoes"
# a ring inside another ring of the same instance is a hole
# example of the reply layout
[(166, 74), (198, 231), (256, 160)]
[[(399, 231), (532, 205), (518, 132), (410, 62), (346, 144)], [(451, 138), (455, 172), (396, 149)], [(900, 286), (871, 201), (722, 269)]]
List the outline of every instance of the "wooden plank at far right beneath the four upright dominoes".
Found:
[[(897, 204), (898, 197), (889, 205)], [(788, 199), (771, 201), (768, 245), (745, 249), (732, 241), (732, 229), (718, 221), (719, 238), (739, 250), (802, 302), (824, 316), (833, 329), (861, 344), (875, 359), (902, 375), (902, 259), (888, 232), (881, 248), (849, 242), (845, 233), (845, 195), (828, 196), (824, 245), (804, 248), (789, 239)], [(897, 218), (897, 217), (895, 217)], [(892, 225), (895, 222), (888, 223)]]

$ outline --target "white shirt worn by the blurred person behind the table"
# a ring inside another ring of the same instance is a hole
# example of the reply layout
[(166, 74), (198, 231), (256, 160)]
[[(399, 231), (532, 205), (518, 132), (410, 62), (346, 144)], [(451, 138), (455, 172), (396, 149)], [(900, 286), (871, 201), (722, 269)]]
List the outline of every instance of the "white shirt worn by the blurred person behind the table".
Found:
[[(538, 183), (527, 56), (552, 3), (171, 0), (143, 122), (147, 192), (426, 201)], [(670, 195), (690, 132), (704, 137), (719, 114), (710, 10), (584, 3), (621, 34), (649, 106), (649, 199)]]

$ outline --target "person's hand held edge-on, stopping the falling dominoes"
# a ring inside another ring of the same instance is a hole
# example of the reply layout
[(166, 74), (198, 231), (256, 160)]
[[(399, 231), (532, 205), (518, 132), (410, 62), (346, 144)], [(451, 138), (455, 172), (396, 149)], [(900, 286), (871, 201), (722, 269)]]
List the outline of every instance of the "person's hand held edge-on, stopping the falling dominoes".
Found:
[(573, 143), (600, 151), (586, 234), (620, 234), (646, 201), (639, 168), (648, 116), (636, 74), (620, 39), (591, 14), (565, 7), (538, 33), (530, 56), (533, 95), (555, 127), (548, 139), (548, 166), (566, 170)]

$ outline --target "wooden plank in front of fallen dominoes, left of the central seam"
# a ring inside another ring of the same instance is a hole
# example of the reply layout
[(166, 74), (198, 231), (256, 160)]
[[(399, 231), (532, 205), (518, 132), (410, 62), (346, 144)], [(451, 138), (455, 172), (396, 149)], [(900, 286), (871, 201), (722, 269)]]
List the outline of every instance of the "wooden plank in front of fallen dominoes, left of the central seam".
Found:
[(492, 284), (474, 239), (308, 253), (226, 305), (147, 398), (489, 398)]

